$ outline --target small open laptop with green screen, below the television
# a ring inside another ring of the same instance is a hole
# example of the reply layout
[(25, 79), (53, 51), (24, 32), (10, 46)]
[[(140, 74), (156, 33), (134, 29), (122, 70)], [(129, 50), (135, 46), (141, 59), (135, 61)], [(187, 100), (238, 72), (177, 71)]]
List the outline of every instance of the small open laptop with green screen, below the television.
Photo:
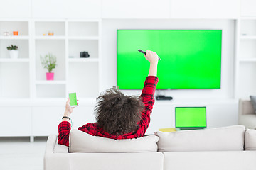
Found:
[(180, 129), (206, 128), (206, 107), (176, 107), (175, 126)]

